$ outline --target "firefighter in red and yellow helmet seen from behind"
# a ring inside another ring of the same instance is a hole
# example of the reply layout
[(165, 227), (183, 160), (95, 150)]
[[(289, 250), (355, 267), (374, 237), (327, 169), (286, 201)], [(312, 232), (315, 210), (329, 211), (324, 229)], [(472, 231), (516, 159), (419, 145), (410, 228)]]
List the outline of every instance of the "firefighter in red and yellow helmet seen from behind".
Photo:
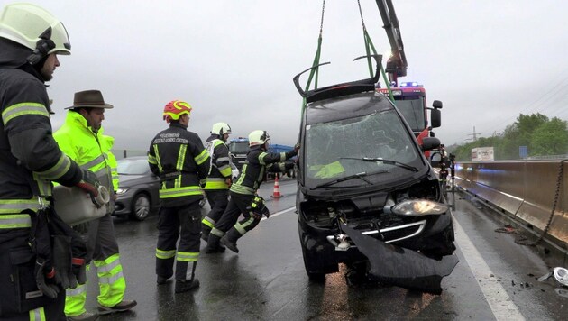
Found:
[[(176, 261), (175, 292), (199, 287), (195, 278), (201, 243), (203, 187), (209, 173), (209, 154), (197, 133), (188, 131), (191, 105), (173, 100), (164, 107), (163, 119), (169, 128), (151, 141), (148, 162), (160, 177), (160, 213), (156, 274), (158, 285), (166, 284)], [(179, 246), (176, 251), (176, 243)], [(188, 279), (188, 263), (192, 263)]]

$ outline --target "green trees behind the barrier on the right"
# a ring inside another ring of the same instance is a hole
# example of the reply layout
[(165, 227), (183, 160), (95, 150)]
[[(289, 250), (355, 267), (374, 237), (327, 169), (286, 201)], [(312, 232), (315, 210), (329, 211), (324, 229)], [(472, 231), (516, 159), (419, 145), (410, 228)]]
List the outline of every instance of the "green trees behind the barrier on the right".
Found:
[(527, 157), (568, 154), (568, 122), (558, 117), (549, 119), (540, 113), (520, 114), (502, 133), (481, 137), (473, 142), (446, 147), (456, 161), (472, 161), (472, 149), (493, 147), (495, 161), (522, 159), (521, 146)]

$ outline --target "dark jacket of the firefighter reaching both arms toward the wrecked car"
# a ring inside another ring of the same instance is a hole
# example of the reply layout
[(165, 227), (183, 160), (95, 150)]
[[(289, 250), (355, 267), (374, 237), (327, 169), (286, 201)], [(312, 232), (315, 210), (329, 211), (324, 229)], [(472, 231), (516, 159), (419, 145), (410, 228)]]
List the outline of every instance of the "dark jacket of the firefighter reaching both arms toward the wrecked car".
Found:
[[(267, 171), (285, 172), (287, 164), (283, 161), (296, 156), (296, 151), (266, 152), (261, 146), (252, 146), (246, 154), (243, 170), (236, 182), (231, 185), (231, 191), (237, 194), (254, 195), (261, 187)], [(293, 165), (292, 163), (290, 163)]]

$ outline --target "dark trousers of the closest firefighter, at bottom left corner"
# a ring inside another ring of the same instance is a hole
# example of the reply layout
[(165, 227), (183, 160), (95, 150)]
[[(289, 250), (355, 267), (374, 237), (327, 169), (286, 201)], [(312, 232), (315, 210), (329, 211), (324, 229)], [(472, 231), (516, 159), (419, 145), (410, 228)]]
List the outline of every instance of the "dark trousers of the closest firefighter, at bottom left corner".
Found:
[[(7, 232), (7, 231), (6, 231)], [(60, 288), (57, 298), (38, 293), (35, 280), (35, 254), (28, 241), (29, 229), (0, 235), (0, 320), (66, 320), (65, 289)], [(26, 298), (27, 297), (27, 298)]]

